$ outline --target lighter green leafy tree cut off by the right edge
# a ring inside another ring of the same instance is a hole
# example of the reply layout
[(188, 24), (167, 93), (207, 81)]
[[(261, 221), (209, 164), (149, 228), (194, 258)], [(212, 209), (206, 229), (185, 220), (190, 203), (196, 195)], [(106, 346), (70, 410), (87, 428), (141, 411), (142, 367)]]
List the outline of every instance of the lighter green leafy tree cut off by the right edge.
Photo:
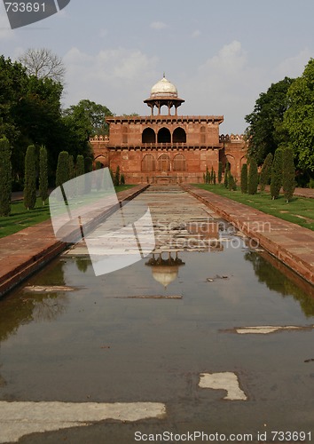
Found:
[(314, 170), (314, 59), (310, 59), (301, 77), (287, 91), (288, 109), (284, 126), (294, 149), (296, 164), (302, 170)]

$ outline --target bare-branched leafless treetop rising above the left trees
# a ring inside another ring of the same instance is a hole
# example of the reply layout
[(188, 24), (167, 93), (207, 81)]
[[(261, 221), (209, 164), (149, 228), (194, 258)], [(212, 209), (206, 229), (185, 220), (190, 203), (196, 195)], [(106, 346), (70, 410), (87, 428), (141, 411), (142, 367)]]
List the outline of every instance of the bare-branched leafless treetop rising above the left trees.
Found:
[(54, 82), (63, 83), (66, 68), (62, 59), (47, 48), (29, 48), (19, 61), (27, 68), (28, 75), (35, 75), (37, 78), (49, 78)]

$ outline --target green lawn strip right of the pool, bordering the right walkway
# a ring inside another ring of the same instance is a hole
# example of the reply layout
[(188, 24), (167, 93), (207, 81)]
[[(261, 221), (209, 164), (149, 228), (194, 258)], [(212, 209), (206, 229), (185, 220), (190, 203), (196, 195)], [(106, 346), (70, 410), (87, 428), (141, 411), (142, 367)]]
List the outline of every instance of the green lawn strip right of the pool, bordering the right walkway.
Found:
[(299, 226), (314, 230), (314, 199), (293, 197), (291, 202), (287, 203), (283, 195), (280, 195), (279, 199), (273, 201), (271, 200), (270, 194), (266, 192), (251, 195), (242, 194), (240, 190), (229, 191), (224, 185), (193, 185), (211, 191), (212, 193), (229, 197), (229, 199), (233, 201), (245, 203), (256, 210), (261, 210), (277, 218), (282, 218)]

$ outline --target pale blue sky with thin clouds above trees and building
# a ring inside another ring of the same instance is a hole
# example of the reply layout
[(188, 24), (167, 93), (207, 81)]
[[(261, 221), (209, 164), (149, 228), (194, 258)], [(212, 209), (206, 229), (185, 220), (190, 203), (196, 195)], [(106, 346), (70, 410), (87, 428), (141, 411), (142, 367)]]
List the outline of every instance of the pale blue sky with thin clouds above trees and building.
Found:
[(150, 115), (143, 103), (163, 73), (179, 115), (224, 115), (245, 131), (261, 92), (314, 58), (313, 0), (71, 0), (12, 30), (0, 4), (0, 54), (48, 48), (67, 69), (64, 107), (90, 99), (115, 115)]

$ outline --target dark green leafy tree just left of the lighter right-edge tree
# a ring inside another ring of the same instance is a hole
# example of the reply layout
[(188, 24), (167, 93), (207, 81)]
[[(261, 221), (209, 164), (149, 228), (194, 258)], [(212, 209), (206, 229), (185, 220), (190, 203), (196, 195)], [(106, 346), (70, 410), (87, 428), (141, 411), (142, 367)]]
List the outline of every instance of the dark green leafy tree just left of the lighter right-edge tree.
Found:
[(262, 92), (255, 101), (251, 114), (245, 120), (248, 156), (255, 157), (258, 164), (263, 163), (268, 153), (273, 154), (277, 147), (287, 143), (287, 128), (283, 125), (288, 107), (287, 91), (294, 79), (285, 77), (278, 83), (271, 83), (267, 92)]

